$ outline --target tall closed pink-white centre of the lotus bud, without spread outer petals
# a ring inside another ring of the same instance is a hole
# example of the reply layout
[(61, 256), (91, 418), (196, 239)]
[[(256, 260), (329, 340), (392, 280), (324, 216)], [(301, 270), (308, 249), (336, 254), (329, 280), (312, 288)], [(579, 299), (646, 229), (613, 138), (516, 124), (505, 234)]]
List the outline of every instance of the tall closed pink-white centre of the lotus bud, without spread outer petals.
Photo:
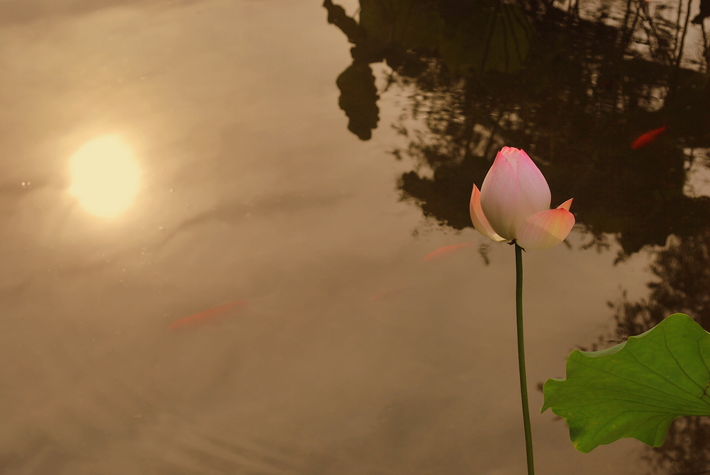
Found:
[(506, 239), (532, 214), (550, 208), (550, 186), (527, 153), (503, 147), (481, 185), (481, 209), (491, 228)]

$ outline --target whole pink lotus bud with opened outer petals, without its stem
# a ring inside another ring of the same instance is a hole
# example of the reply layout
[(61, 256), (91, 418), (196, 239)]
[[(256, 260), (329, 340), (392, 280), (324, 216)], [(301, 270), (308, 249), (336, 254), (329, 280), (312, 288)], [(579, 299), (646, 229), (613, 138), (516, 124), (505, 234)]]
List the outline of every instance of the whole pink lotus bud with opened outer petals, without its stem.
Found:
[(550, 187), (524, 151), (503, 147), (481, 185), (471, 193), (471, 222), (493, 241), (515, 239), (523, 249), (547, 249), (574, 226), (572, 200), (550, 209)]

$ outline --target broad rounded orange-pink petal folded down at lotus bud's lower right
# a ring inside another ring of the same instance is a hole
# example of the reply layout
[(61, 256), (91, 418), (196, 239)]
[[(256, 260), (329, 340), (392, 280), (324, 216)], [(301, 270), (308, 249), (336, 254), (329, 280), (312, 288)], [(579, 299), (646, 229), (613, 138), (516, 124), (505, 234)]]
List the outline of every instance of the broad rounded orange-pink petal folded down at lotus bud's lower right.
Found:
[(549, 249), (564, 241), (572, 226), (574, 215), (567, 209), (548, 209), (525, 219), (515, 242), (523, 249)]

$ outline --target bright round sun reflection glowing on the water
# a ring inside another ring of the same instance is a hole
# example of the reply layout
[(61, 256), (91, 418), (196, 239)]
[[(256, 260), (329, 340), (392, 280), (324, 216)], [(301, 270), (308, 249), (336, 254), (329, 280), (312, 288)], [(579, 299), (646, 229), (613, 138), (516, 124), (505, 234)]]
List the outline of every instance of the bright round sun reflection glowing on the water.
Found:
[(133, 151), (117, 136), (94, 138), (69, 162), (71, 194), (82, 208), (100, 217), (124, 212), (138, 194), (141, 169)]

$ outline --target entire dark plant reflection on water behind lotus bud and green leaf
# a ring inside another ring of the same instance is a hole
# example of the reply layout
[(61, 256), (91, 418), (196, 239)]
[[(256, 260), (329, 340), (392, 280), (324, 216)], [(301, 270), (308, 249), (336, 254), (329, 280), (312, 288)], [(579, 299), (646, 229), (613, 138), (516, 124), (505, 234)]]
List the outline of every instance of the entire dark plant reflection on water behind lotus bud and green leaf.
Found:
[[(710, 198), (694, 192), (710, 165), (709, 6), (361, 0), (356, 21), (324, 2), (354, 44), (337, 81), (350, 131), (367, 140), (378, 126), (371, 63), (390, 68), (381, 94), (408, 97), (385, 126), (408, 141), (393, 155), (417, 165), (398, 186), (425, 216), (470, 227), (471, 183), (502, 145), (515, 146), (537, 160), (553, 206), (574, 197), (588, 236), (581, 249), (615, 240), (617, 263), (655, 249), (650, 297), (624, 296), (613, 307), (617, 334), (595, 348), (674, 312), (710, 329)], [(664, 473), (708, 473), (709, 441), (707, 418), (684, 418), (646, 457)]]

